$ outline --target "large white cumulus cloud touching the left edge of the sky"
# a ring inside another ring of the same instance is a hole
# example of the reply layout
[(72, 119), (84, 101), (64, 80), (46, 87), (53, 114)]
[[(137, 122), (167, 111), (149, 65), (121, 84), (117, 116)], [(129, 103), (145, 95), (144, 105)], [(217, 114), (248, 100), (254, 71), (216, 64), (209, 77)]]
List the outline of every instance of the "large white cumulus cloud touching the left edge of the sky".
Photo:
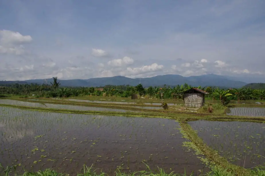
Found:
[(24, 54), (24, 46), (22, 44), (31, 42), (31, 36), (23, 36), (19, 32), (9, 30), (0, 30), (0, 53), (5, 54)]

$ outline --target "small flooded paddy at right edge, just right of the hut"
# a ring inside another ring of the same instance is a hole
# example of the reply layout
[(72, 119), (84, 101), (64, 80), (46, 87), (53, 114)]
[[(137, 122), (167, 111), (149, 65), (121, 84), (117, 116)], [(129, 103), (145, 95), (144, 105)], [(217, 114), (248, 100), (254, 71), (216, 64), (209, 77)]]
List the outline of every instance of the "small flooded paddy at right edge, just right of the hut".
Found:
[(232, 107), (228, 109), (227, 115), (265, 117), (265, 107)]

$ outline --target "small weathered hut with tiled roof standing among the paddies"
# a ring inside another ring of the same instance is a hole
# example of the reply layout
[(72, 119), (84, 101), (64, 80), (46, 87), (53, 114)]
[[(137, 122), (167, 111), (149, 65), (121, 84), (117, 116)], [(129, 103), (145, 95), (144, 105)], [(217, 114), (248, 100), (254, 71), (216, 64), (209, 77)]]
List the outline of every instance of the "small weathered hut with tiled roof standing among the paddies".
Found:
[(197, 88), (191, 88), (182, 93), (185, 107), (194, 108), (202, 107), (205, 102), (205, 95), (209, 94), (208, 92), (202, 91)]

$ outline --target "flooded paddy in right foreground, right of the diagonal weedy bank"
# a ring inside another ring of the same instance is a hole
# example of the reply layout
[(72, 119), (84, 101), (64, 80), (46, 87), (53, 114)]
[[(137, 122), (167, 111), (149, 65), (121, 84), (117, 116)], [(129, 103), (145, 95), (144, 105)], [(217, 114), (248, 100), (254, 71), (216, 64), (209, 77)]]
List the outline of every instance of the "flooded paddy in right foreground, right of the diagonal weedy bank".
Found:
[[(188, 122), (206, 144), (231, 163), (251, 168), (265, 162), (265, 125), (254, 122)], [(245, 163), (245, 165), (244, 165)]]

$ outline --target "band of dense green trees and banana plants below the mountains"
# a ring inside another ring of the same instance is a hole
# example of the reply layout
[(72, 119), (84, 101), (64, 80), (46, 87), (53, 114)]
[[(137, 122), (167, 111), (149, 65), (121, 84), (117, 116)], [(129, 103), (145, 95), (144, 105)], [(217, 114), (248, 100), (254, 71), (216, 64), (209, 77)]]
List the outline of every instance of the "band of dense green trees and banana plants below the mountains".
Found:
[[(143, 87), (142, 84), (137, 86), (107, 85), (103, 88), (98, 87), (60, 87), (60, 81), (53, 78), (53, 82), (49, 84), (18, 84), (6, 85), (0, 88), (0, 95), (20, 95), (28, 97), (36, 95), (36, 97), (71, 97), (71, 96), (117, 96), (130, 97), (132, 94), (138, 94), (145, 98), (163, 98), (163, 99), (181, 99), (180, 95), (183, 91), (190, 89), (192, 86), (188, 84), (178, 85), (176, 87)], [(239, 89), (219, 89), (215, 87), (197, 87), (209, 94), (206, 98), (213, 100), (221, 100), (226, 104), (230, 100), (258, 100), (265, 98), (265, 90), (252, 88)]]

